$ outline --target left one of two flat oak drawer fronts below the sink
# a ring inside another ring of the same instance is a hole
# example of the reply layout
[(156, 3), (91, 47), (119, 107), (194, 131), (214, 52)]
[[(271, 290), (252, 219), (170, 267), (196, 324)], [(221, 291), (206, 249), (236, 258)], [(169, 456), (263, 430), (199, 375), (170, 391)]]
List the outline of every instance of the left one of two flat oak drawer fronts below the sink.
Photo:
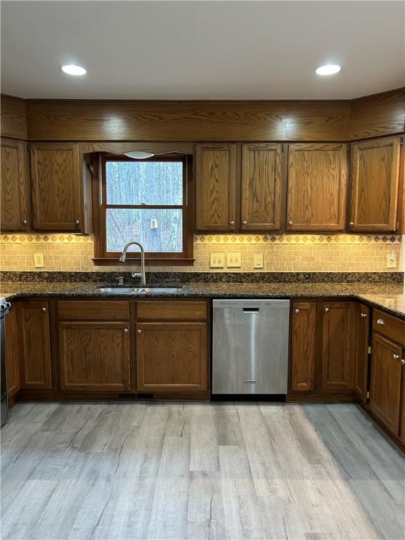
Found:
[(60, 300), (58, 319), (87, 321), (125, 321), (129, 319), (129, 302), (122, 300)]

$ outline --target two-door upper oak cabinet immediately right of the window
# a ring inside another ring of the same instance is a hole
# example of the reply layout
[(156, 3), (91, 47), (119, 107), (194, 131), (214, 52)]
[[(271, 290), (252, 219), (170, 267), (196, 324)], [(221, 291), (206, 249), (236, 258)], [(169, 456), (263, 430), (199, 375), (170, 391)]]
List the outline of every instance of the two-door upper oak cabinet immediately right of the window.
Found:
[(277, 143), (198, 144), (197, 231), (281, 231), (283, 148)]

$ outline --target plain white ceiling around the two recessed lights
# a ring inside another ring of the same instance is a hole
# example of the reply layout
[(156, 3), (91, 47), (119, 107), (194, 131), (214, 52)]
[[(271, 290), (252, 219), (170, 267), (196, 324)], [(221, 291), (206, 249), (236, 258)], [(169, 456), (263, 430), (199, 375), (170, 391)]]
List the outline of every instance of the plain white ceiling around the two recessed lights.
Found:
[[(1, 1), (24, 98), (355, 98), (405, 85), (403, 1)], [(88, 74), (69, 77), (63, 63)], [(332, 77), (315, 75), (340, 63)]]

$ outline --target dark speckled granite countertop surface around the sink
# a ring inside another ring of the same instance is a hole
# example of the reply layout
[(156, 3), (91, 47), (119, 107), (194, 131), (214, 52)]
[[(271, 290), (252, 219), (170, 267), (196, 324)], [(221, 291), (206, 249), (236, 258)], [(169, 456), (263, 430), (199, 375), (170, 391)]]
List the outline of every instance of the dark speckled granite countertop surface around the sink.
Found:
[[(181, 289), (175, 293), (120, 294), (97, 293), (108, 283), (53, 283), (46, 281), (3, 281), (0, 295), (13, 301), (29, 297), (204, 297), (204, 298), (293, 298), (349, 297), (378, 307), (405, 320), (404, 285), (394, 283), (175, 283)], [(127, 286), (134, 286), (133, 284)], [(136, 286), (136, 285), (135, 285)], [(152, 286), (159, 286), (154, 284)], [(160, 286), (170, 287), (169, 283)]]

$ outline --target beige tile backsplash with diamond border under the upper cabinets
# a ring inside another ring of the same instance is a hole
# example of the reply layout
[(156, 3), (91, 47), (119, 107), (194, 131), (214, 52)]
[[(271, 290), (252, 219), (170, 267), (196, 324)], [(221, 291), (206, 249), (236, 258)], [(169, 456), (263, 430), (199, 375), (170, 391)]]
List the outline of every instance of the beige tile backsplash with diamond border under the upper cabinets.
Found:
[[(240, 253), (240, 268), (210, 268), (211, 253)], [(44, 269), (34, 267), (34, 253), (44, 254)], [(263, 255), (264, 268), (254, 269), (253, 258)], [(387, 255), (395, 268), (387, 269)], [(153, 267), (154, 271), (268, 271), (268, 272), (382, 272), (401, 269), (401, 236), (394, 235), (196, 235), (194, 266)], [(0, 235), (0, 267), (4, 271), (122, 271), (96, 266), (92, 236), (72, 234)], [(134, 265), (136, 268), (136, 265)], [(125, 270), (130, 270), (125, 266)]]

